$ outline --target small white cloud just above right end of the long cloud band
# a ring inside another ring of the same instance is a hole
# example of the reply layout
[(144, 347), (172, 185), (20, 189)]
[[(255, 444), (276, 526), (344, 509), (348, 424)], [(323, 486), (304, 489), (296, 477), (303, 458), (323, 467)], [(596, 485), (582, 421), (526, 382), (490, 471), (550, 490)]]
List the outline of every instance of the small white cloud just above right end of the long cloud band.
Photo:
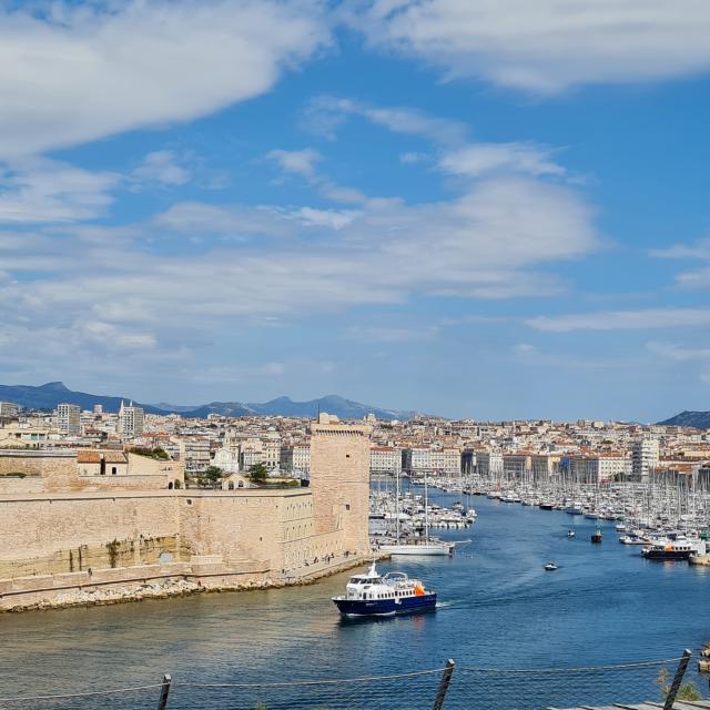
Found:
[(529, 143), (475, 143), (445, 153), (439, 168), (454, 175), (523, 173), (561, 178), (566, 171), (550, 160), (550, 151)]

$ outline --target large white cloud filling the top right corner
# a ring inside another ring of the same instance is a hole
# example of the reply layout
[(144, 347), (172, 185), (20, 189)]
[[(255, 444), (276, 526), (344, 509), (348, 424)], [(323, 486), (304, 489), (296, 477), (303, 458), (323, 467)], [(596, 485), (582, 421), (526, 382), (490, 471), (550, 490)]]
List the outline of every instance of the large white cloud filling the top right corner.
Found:
[(448, 77), (536, 93), (710, 70), (706, 0), (374, 0), (351, 22)]

